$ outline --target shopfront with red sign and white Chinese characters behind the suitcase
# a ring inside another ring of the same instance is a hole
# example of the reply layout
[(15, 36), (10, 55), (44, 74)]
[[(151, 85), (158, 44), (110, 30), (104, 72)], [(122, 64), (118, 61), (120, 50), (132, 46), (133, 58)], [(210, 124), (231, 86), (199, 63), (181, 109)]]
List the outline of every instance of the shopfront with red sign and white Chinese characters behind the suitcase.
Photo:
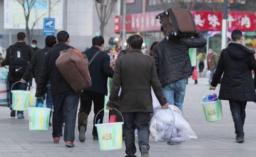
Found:
[[(209, 39), (208, 47), (221, 52), (223, 0), (133, 0), (126, 1), (126, 32), (140, 33), (149, 48), (153, 41), (163, 39), (161, 24), (155, 16), (171, 7), (189, 9), (199, 30)], [(121, 3), (121, 12), (123, 10)], [(229, 1), (228, 30), (241, 29), (249, 47), (256, 48), (256, 1)], [(119, 20), (121, 19), (121, 20)], [(116, 16), (115, 32), (122, 32), (122, 16)], [(121, 31), (120, 31), (121, 30)], [(228, 33), (230, 38), (230, 32)]]

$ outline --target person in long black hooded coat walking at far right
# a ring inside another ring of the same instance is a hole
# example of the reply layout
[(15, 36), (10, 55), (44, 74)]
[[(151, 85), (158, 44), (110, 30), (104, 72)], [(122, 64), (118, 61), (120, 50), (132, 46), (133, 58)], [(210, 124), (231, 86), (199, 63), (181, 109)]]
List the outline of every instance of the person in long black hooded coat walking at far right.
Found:
[(245, 107), (247, 101), (256, 101), (254, 82), (251, 70), (256, 70), (255, 50), (242, 45), (243, 34), (234, 30), (232, 42), (221, 52), (217, 69), (210, 83), (210, 89), (215, 89), (223, 74), (219, 99), (229, 100), (232, 113), (236, 140), (244, 142)]

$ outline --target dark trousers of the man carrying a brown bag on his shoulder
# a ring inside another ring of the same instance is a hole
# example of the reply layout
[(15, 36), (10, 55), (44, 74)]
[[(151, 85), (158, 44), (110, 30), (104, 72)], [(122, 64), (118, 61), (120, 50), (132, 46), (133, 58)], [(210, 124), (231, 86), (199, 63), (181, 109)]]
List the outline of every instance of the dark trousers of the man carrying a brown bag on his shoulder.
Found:
[(66, 92), (52, 95), (52, 137), (62, 136), (62, 126), (65, 114), (64, 141), (74, 141), (75, 120), (81, 93)]

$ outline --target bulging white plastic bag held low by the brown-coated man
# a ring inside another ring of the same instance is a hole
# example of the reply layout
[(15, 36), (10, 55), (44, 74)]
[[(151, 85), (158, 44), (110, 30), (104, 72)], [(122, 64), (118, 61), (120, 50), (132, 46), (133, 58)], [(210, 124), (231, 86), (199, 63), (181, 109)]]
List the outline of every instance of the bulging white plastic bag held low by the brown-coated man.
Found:
[[(154, 108), (154, 115), (150, 122), (150, 134), (155, 141), (169, 141), (175, 143), (196, 139), (196, 134), (182, 117), (180, 109), (169, 105), (170, 109)], [(174, 128), (173, 128), (174, 125)]]

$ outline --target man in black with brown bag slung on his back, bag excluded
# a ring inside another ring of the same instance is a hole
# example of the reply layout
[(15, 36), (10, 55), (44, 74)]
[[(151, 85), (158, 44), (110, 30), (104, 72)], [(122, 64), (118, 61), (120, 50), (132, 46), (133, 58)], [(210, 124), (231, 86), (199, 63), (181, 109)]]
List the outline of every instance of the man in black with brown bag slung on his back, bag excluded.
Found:
[[(63, 118), (65, 115), (64, 141), (65, 146), (74, 147), (75, 120), (81, 92), (75, 93), (71, 86), (58, 71), (55, 62), (60, 52), (72, 48), (69, 46), (69, 34), (66, 31), (57, 33), (57, 43), (45, 55), (41, 79), (37, 83), (36, 97), (39, 99), (45, 92), (46, 85), (51, 82), (53, 102), (52, 137), (58, 143), (62, 136)], [(75, 81), (75, 80), (74, 80)]]

